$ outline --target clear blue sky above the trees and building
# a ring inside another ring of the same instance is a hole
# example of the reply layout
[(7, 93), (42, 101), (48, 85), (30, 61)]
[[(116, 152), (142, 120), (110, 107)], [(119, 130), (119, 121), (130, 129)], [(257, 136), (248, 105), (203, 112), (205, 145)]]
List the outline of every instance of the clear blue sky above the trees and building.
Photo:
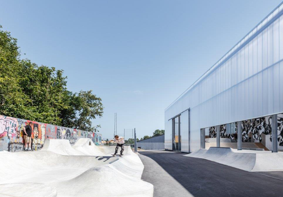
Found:
[(103, 137), (117, 112), (117, 133), (135, 127), (140, 138), (164, 129), (164, 109), (280, 2), (1, 1), (0, 24), (21, 58), (102, 98)]

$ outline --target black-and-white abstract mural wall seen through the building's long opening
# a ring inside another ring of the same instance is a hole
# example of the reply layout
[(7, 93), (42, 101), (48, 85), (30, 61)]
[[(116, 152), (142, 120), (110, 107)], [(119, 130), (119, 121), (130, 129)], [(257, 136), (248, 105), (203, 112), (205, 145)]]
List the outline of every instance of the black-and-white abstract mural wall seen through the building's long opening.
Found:
[[(230, 138), (237, 141), (237, 122), (235, 133), (226, 134), (226, 124), (220, 125), (220, 137)], [(277, 116), (277, 141), (278, 149), (283, 149), (283, 114)], [(262, 142), (267, 148), (272, 147), (271, 143), (271, 116), (248, 119), (242, 121), (242, 142), (249, 141), (249, 134), (252, 134), (252, 142)], [(216, 127), (209, 127), (209, 137), (216, 137)]]

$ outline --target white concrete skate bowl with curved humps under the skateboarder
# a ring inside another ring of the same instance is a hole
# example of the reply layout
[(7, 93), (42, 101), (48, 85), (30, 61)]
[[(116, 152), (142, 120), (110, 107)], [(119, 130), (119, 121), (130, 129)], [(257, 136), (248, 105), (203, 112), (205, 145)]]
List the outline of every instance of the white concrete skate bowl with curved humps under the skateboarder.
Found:
[(46, 139), (39, 151), (0, 151), (0, 196), (153, 196), (139, 156), (125, 146), (112, 157), (115, 147)]

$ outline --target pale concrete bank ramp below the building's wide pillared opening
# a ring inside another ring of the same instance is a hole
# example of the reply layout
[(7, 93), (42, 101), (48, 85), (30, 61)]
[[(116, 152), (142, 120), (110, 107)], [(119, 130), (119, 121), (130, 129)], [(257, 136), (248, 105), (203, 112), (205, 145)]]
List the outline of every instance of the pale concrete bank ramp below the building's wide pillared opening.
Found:
[(185, 156), (207, 159), (251, 172), (283, 171), (283, 152), (210, 147), (208, 150), (199, 149)]

